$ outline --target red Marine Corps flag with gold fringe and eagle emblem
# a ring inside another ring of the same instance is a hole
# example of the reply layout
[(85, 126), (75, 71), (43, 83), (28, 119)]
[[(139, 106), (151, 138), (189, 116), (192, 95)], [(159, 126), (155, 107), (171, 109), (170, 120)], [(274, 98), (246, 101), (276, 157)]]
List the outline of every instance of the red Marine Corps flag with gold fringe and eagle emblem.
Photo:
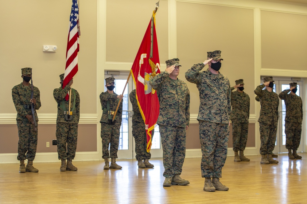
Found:
[(155, 28), (155, 15), (159, 7), (156, 3), (156, 9), (145, 32), (138, 54), (135, 57), (131, 68), (131, 74), (136, 87), (136, 98), (140, 108), (147, 134), (147, 152), (151, 147), (151, 131), (157, 122), (159, 116), (159, 100), (156, 90), (152, 89), (149, 80), (160, 73), (160, 62), (157, 44), (157, 35)]

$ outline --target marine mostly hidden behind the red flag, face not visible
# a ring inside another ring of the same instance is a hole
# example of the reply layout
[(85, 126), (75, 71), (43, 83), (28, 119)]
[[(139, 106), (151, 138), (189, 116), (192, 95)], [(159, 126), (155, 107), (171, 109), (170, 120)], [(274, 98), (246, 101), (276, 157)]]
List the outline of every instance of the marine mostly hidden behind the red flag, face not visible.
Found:
[[(129, 98), (133, 109), (132, 135), (135, 140), (135, 158), (138, 160), (138, 168), (153, 168), (153, 164), (150, 164), (148, 161), (151, 158), (151, 154), (150, 152), (147, 152), (147, 135), (145, 123), (140, 113), (140, 108), (138, 107), (135, 89), (130, 92)], [(151, 131), (152, 137), (153, 133), (154, 130)], [(142, 160), (144, 160), (144, 162)]]

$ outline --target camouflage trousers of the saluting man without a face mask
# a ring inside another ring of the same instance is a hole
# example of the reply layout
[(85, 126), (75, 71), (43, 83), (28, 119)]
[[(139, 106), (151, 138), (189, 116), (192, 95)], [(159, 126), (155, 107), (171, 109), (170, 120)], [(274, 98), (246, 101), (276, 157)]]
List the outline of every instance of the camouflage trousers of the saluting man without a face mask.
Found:
[(180, 175), (185, 161), (186, 130), (182, 127), (159, 125), (163, 149), (164, 177)]

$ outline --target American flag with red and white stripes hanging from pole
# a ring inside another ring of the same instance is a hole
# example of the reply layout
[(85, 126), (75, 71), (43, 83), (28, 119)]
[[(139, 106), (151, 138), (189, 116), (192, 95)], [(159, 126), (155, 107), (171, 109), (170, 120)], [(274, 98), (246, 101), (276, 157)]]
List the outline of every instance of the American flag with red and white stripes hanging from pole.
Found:
[[(79, 8), (77, 0), (72, 0), (72, 11), (69, 18), (69, 32), (66, 50), (66, 67), (64, 74), (63, 89), (73, 76), (78, 72), (79, 52)], [(68, 101), (68, 94), (65, 99)]]

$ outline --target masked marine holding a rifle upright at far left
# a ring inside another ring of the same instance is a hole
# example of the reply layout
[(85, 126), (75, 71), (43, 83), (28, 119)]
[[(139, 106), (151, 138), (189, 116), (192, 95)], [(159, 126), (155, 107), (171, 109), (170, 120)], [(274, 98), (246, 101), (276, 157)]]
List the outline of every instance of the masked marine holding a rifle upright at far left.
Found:
[[(37, 131), (33, 130), (34, 120), (32, 117), (31, 106), (34, 103), (35, 119), (38, 121), (36, 110), (41, 107), (40, 92), (37, 87), (33, 86), (33, 98), (31, 99), (31, 75), (32, 68), (21, 69), (22, 83), (12, 89), (13, 102), (17, 111), (17, 128), (18, 128), (18, 156), (20, 161), (19, 172), (38, 172), (33, 167), (33, 160), (37, 147)], [(38, 127), (37, 127), (38, 129)], [(25, 167), (25, 159), (28, 164)]]

